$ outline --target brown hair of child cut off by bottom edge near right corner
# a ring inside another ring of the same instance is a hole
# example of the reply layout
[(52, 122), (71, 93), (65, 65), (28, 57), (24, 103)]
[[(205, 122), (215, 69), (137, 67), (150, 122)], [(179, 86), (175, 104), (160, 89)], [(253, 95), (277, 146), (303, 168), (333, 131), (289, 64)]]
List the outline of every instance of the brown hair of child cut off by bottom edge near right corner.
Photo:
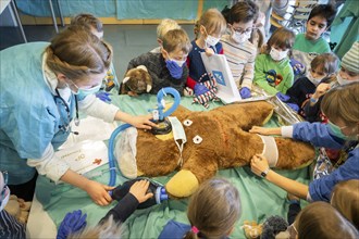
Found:
[(358, 238), (357, 229), (331, 204), (313, 202), (297, 216), (298, 239)]

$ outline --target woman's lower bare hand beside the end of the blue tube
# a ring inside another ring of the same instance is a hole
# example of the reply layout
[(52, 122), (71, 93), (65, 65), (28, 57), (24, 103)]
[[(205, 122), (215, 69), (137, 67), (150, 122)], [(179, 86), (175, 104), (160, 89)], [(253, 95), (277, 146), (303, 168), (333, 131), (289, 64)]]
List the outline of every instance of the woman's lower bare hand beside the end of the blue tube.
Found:
[(91, 197), (96, 204), (108, 205), (112, 201), (112, 198), (108, 191), (113, 189), (114, 187), (89, 180), (84, 190)]

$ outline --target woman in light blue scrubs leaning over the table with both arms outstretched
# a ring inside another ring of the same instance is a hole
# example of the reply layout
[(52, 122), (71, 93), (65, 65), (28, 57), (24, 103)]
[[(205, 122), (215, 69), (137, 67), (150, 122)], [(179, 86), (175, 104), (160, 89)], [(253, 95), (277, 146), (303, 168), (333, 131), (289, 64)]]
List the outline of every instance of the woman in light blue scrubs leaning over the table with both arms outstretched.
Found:
[(77, 110), (106, 122), (154, 126), (150, 116), (128, 115), (95, 97), (111, 61), (111, 47), (79, 27), (63, 30), (50, 45), (0, 51), (0, 171), (8, 171), (13, 193), (32, 200), (38, 172), (85, 190), (97, 204), (111, 202), (111, 187), (73, 172), (54, 154), (71, 121), (78, 121)]

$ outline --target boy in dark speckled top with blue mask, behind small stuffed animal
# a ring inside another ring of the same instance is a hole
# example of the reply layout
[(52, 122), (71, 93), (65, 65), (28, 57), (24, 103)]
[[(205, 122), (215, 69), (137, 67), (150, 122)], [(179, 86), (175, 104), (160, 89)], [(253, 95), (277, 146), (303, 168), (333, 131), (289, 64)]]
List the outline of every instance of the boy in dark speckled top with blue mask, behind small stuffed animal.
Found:
[(152, 78), (150, 93), (157, 93), (163, 87), (173, 87), (183, 95), (188, 76), (185, 62), (189, 51), (190, 41), (186, 32), (172, 29), (163, 36), (161, 53), (147, 52), (131, 60), (127, 71), (145, 65)]

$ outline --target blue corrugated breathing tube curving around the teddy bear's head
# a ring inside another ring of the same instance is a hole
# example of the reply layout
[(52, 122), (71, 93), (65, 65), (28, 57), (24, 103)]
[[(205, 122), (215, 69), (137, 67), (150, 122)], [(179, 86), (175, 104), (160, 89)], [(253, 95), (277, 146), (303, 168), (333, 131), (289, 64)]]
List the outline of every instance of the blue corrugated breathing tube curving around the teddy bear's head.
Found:
[[(164, 96), (166, 96), (168, 93), (172, 95), (174, 97), (174, 103), (173, 105), (165, 112), (163, 112), (164, 110), (164, 105), (162, 105), (162, 99)], [(165, 87), (162, 88), (158, 93), (157, 93), (157, 105), (158, 105), (158, 111), (159, 111), (159, 118), (160, 121), (162, 121), (163, 118), (165, 118), (166, 116), (169, 116), (170, 114), (172, 114), (180, 105), (180, 101), (181, 101), (181, 96), (178, 93), (177, 90), (175, 90), (172, 87)], [(114, 131), (111, 134), (110, 140), (109, 140), (109, 166), (110, 166), (110, 183), (109, 186), (113, 187), (116, 184), (116, 165), (115, 165), (115, 158), (113, 155), (114, 152), (114, 142), (115, 142), (115, 138), (117, 137), (117, 135), (132, 127), (131, 124), (123, 124), (120, 125), (116, 129), (114, 129)], [(110, 192), (111, 193), (111, 192)]]

